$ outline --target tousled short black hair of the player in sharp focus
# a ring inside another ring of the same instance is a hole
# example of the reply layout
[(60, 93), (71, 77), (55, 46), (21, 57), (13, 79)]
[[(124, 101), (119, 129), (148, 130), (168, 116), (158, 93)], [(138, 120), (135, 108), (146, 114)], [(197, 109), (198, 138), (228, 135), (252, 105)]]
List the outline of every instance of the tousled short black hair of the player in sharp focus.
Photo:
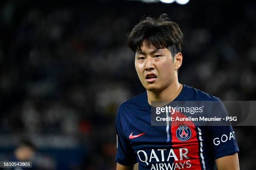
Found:
[(182, 50), (183, 34), (177, 23), (170, 21), (167, 14), (161, 14), (158, 19), (141, 20), (128, 35), (128, 46), (133, 52), (141, 50), (143, 41), (157, 49), (169, 49), (174, 57)]

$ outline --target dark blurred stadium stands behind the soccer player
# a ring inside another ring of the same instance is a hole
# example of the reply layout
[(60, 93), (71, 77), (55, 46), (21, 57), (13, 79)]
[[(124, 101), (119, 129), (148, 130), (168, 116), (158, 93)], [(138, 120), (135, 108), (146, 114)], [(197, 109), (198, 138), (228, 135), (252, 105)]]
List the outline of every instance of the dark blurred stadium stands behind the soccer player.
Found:
[[(167, 13), (184, 33), (181, 83), (221, 100), (256, 99), (256, 5), (190, 0), (0, 2), (0, 160), (23, 139), (39, 169), (115, 168), (115, 113), (144, 91), (127, 34)], [(255, 127), (235, 127), (241, 170), (255, 169)]]

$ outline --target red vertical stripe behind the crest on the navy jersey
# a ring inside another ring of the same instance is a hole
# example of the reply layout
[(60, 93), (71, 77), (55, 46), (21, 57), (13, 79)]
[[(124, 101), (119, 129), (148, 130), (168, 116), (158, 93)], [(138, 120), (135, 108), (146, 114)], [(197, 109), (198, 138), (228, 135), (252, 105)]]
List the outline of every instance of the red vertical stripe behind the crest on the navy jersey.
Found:
[[(171, 117), (174, 117), (174, 120), (176, 120), (176, 117), (183, 117), (187, 118), (183, 113), (180, 112), (174, 112), (174, 114), (171, 114)], [(191, 137), (187, 141), (181, 141), (176, 136), (176, 130), (180, 125), (187, 125), (191, 130)], [(186, 168), (186, 163), (184, 165), (184, 169), (182, 170), (201, 170), (200, 165), (200, 158), (199, 158), (199, 143), (200, 141), (197, 139), (197, 131), (195, 129), (195, 124), (192, 121), (172, 121), (171, 126), (171, 134), (172, 134), (172, 148), (174, 150), (175, 155), (180, 155), (179, 148), (187, 148), (188, 153), (186, 154), (189, 159), (183, 158), (183, 160), (174, 160), (174, 163), (184, 163), (190, 160), (191, 167)], [(179, 157), (178, 157), (179, 158)], [(177, 168), (178, 169), (178, 168)]]

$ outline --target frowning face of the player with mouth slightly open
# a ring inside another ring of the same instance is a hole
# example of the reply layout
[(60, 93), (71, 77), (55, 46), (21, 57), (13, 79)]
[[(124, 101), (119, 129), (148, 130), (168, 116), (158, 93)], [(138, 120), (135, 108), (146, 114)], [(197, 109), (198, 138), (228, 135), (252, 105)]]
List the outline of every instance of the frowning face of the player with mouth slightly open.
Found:
[(143, 42), (135, 54), (135, 68), (142, 85), (149, 91), (159, 92), (172, 84), (175, 72), (174, 59), (167, 48), (156, 49)]

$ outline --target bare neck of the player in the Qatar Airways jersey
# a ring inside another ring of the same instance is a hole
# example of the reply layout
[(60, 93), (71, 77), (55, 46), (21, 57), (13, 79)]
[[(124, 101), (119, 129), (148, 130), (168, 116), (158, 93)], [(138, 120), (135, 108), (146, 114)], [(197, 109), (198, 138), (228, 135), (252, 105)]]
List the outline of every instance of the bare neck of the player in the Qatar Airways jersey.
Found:
[(151, 105), (151, 101), (166, 101), (172, 102), (182, 90), (183, 85), (179, 82), (172, 83), (166, 89), (159, 92), (151, 92), (147, 90), (148, 103)]

